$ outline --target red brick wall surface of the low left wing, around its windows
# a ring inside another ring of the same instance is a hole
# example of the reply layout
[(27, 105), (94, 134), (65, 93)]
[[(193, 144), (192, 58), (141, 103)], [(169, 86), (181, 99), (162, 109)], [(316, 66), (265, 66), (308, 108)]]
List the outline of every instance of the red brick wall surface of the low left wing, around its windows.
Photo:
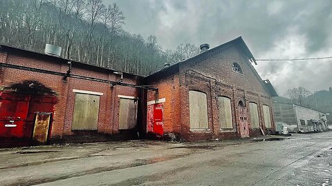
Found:
[[(8, 56), (6, 56), (6, 52), (0, 53), (1, 63), (10, 63), (55, 72), (66, 72), (68, 70), (68, 65), (65, 61), (61, 60), (62, 59), (48, 56), (40, 56), (39, 54), (32, 56), (31, 54), (16, 51), (8, 51)], [(120, 76), (113, 74), (113, 71), (111, 70), (109, 72), (106, 72), (106, 70), (88, 70), (80, 68), (77, 64), (73, 65), (71, 74), (89, 76), (109, 81), (118, 81), (118, 79), (120, 79)], [(75, 104), (75, 92), (73, 92), (73, 89), (103, 93), (103, 95), (100, 96), (98, 132), (104, 134), (118, 133), (118, 115), (120, 105), (118, 95), (138, 97), (138, 89), (134, 87), (124, 87), (120, 85), (111, 87), (108, 83), (89, 81), (85, 79), (74, 79), (71, 77), (64, 81), (62, 76), (15, 70), (10, 68), (2, 69), (0, 79), (0, 86), (9, 86), (11, 83), (19, 83), (24, 80), (37, 80), (56, 92), (58, 101), (55, 105), (55, 113), (53, 117), (54, 120), (51, 132), (51, 137), (53, 138), (74, 134), (71, 131), (73, 108)], [(124, 74), (122, 82), (137, 85), (139, 83), (139, 79), (140, 77), (138, 76)]]

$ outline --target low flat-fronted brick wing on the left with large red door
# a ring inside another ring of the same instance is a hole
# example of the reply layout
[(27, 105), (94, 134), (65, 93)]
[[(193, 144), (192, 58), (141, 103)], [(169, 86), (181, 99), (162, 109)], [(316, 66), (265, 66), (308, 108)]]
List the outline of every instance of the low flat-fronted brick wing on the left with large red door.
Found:
[(0, 64), (0, 138), (29, 141), (37, 112), (50, 113), (44, 137), (53, 141), (138, 136), (141, 76), (6, 45)]

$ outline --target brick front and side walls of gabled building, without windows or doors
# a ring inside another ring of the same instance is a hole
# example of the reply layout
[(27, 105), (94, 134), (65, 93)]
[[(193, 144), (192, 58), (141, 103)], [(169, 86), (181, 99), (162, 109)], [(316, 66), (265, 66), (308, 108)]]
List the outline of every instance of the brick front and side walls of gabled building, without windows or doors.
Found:
[[(232, 72), (232, 63), (235, 62), (241, 66), (243, 75)], [(201, 55), (201, 58), (181, 63), (178, 70), (160, 73), (156, 79), (158, 81), (147, 82), (159, 89), (158, 94), (148, 94), (148, 101), (157, 97), (166, 99), (165, 133), (180, 134), (185, 141), (240, 137), (239, 101), (243, 101), (248, 110), (249, 102), (257, 103), (259, 123), (264, 130), (266, 129), (263, 105), (270, 106), (270, 115), (273, 117), (272, 101), (261, 83), (261, 78), (235, 45), (225, 45), (219, 52), (208, 52), (205, 56)], [(210, 130), (190, 130), (189, 90), (204, 92), (207, 95)], [(219, 126), (218, 96), (226, 96), (231, 100), (233, 130), (223, 130)], [(250, 121), (250, 112), (248, 120)], [(250, 136), (261, 135), (260, 129), (254, 130), (251, 125), (249, 127)]]

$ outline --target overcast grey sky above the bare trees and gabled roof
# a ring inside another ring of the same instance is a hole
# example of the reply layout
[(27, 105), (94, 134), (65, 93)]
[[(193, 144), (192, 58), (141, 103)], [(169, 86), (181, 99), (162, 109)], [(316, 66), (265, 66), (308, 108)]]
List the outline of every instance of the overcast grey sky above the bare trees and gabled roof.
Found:
[[(117, 3), (124, 30), (155, 35), (159, 45), (216, 47), (242, 36), (256, 59), (332, 56), (332, 1), (104, 0)], [(312, 92), (332, 86), (332, 59), (257, 61), (262, 79), (280, 94), (303, 86)]]

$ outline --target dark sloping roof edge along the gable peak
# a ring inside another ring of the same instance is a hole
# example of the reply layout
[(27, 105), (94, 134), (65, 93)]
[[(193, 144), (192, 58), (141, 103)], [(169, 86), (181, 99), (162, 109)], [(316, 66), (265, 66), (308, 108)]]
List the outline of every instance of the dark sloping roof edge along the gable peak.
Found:
[(153, 74), (150, 74), (149, 76), (146, 76), (145, 79), (149, 79), (151, 76), (156, 76), (156, 75), (158, 75), (158, 74), (160, 74), (162, 72), (168, 72), (169, 70), (172, 70), (172, 69), (178, 67), (178, 65), (181, 64), (181, 63), (187, 63), (188, 61), (192, 61), (194, 59), (198, 59), (201, 56), (206, 56), (207, 54), (216, 52), (217, 50), (220, 50), (221, 48), (223, 48), (225, 45), (229, 45), (231, 43), (237, 44), (238, 47), (243, 51), (243, 54), (245, 54), (246, 57), (249, 59), (249, 61), (252, 62), (252, 63), (255, 63), (255, 65), (257, 65), (255, 57), (250, 52), (248, 46), (243, 41), (242, 37), (237, 37), (236, 39), (228, 41), (227, 43), (223, 43), (223, 44), (221, 44), (219, 46), (216, 46), (215, 48), (212, 48), (212, 49), (207, 50), (205, 52), (202, 52), (200, 54), (197, 54), (196, 56), (193, 56), (191, 58), (188, 58), (188, 59), (185, 59), (185, 60), (182, 60), (182, 61), (178, 61), (178, 62), (176, 62), (176, 63), (174, 63), (172, 65), (169, 65), (168, 67), (165, 67), (165, 68), (163, 68), (161, 70), (158, 70), (157, 72), (154, 72)]

